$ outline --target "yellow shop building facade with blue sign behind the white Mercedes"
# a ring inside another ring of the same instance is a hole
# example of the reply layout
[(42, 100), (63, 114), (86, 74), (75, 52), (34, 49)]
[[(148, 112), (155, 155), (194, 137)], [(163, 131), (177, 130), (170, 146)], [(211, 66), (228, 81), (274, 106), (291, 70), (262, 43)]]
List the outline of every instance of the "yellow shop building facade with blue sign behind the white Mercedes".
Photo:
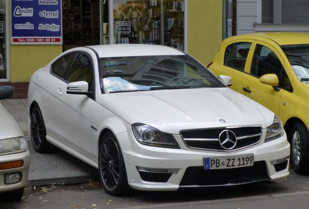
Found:
[(218, 0), (0, 0), (0, 85), (26, 98), (35, 70), (85, 45), (169, 45), (207, 65), (222, 14)]

